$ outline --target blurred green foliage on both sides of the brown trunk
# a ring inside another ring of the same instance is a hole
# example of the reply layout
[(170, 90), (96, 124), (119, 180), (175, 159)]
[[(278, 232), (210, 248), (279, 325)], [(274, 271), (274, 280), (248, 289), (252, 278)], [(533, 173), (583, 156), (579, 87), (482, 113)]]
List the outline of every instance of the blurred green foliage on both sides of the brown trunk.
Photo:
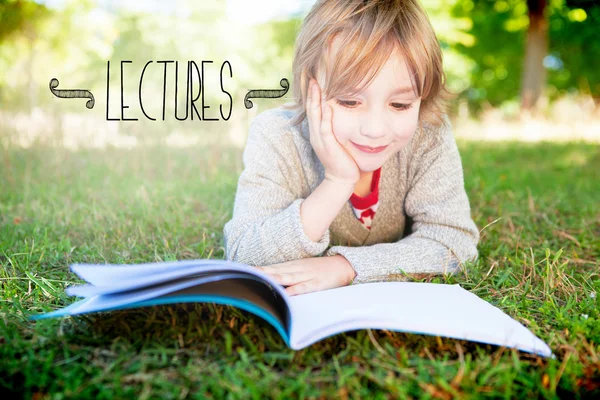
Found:
[[(549, 57), (546, 90), (550, 100), (578, 90), (598, 97), (600, 72), (600, 6), (587, 4), (587, 12), (572, 9), (565, 0), (551, 0), (548, 20)], [(525, 41), (529, 26), (524, 0), (460, 0), (451, 7), (453, 18), (470, 19), (472, 44), (455, 49), (472, 60), (469, 89), (461, 96), (472, 112), (485, 106), (500, 107), (520, 96)]]

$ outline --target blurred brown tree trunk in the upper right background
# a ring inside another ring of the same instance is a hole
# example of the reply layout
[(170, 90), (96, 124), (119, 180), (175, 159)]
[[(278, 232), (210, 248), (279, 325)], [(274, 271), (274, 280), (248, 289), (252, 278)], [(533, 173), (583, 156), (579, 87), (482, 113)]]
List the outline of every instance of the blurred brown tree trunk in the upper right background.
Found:
[(535, 108), (546, 81), (544, 57), (548, 52), (548, 21), (544, 15), (546, 0), (527, 0), (529, 29), (525, 64), (521, 80), (521, 110)]

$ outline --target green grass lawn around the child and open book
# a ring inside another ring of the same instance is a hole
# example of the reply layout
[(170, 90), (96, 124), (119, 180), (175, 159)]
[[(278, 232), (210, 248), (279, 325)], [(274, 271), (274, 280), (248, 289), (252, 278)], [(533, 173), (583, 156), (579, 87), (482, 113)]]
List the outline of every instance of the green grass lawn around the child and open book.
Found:
[(2, 391), (36, 399), (597, 398), (598, 147), (459, 147), (484, 229), (480, 258), (456, 276), (421, 281), (460, 283), (546, 341), (555, 360), (383, 330), (295, 352), (265, 321), (215, 304), (28, 321), (75, 301), (64, 294), (81, 282), (70, 263), (222, 259), (241, 153), (4, 145)]

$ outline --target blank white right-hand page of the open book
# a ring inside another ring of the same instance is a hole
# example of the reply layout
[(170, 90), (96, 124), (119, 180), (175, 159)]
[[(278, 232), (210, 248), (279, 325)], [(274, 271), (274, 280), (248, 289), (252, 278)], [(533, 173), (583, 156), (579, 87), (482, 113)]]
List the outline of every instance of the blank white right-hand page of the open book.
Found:
[(386, 329), (552, 355), (525, 326), (457, 284), (363, 283), (291, 296), (289, 303), (295, 350), (342, 332)]

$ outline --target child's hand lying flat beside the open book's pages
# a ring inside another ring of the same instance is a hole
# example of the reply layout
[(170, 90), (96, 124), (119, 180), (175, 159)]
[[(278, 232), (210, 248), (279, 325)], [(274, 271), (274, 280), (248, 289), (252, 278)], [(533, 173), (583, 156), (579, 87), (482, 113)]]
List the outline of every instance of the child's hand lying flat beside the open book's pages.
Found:
[(339, 254), (255, 268), (267, 273), (279, 284), (287, 286), (285, 290), (290, 296), (347, 286), (356, 276), (352, 265)]

